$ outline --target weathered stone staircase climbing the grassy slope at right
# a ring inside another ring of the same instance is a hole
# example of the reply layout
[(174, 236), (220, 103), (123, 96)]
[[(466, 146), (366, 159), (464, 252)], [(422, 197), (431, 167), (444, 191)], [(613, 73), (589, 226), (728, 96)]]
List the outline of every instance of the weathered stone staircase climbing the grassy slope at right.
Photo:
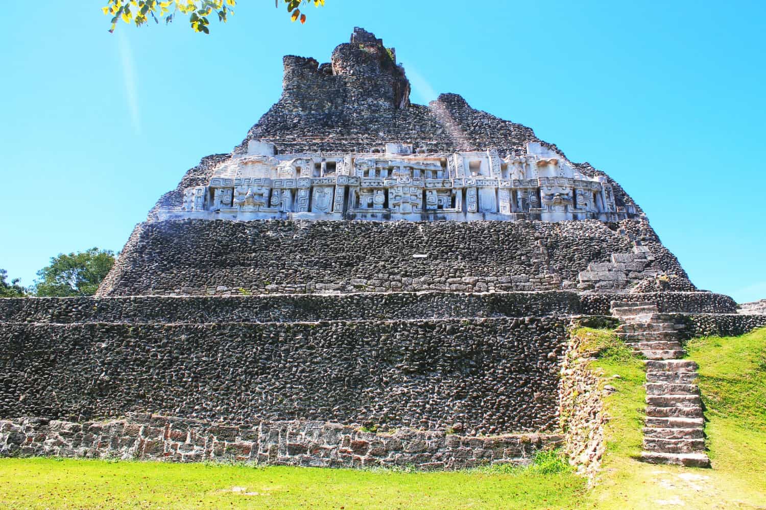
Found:
[(679, 340), (683, 325), (649, 301), (612, 301), (611, 313), (623, 324), (617, 336), (647, 358), (647, 418), (641, 460), (655, 464), (709, 467), (705, 418), (695, 384), (697, 365)]

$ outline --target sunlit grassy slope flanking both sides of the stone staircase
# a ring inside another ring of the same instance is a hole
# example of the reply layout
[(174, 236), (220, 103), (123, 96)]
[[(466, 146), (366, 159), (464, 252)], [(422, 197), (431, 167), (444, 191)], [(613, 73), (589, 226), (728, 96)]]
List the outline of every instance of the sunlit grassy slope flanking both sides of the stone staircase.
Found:
[(640, 362), (605, 356), (594, 362), (617, 374), (607, 397), (607, 454), (593, 508), (766, 508), (766, 329), (732, 338), (689, 343), (699, 363), (699, 386), (707, 406), (713, 469), (653, 466), (640, 452), (644, 382)]

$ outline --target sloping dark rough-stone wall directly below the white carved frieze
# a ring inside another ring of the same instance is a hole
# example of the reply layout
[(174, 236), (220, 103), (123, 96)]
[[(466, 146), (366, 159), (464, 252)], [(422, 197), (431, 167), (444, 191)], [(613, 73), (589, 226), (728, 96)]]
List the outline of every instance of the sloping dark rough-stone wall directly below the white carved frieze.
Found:
[(686, 279), (648, 223), (633, 220), (187, 219), (136, 227), (98, 295), (574, 289), (589, 263), (633, 249), (620, 229), (643, 238), (663, 270)]

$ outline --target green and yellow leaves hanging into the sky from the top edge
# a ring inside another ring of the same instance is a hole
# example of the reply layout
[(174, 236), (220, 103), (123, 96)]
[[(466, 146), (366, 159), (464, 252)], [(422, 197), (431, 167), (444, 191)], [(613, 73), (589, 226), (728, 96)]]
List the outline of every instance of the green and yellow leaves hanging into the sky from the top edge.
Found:
[[(274, 0), (274, 6), (279, 8), (280, 2), (286, 5), (291, 20), (300, 19), (301, 23), (306, 23), (306, 15), (299, 8), (302, 3), (310, 2), (316, 7), (325, 5), (325, 0)], [(236, 0), (108, 0), (101, 10), (104, 15), (112, 17), (110, 32), (114, 31), (119, 20), (135, 23), (137, 27), (150, 19), (159, 23), (162, 18), (168, 24), (180, 12), (188, 16), (192, 30), (210, 34), (210, 18), (218, 15), (218, 21), (225, 23), (228, 16), (234, 14), (232, 8), (236, 5)]]

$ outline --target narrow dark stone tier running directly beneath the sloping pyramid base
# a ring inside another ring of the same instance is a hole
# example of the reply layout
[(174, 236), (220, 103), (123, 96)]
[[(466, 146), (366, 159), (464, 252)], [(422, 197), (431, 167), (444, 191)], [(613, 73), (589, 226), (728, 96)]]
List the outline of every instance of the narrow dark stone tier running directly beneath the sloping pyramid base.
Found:
[[(20, 297), (0, 299), (0, 323), (250, 323), (609, 315), (614, 294), (388, 292), (254, 296)], [(620, 294), (661, 312), (733, 313), (712, 292)]]

